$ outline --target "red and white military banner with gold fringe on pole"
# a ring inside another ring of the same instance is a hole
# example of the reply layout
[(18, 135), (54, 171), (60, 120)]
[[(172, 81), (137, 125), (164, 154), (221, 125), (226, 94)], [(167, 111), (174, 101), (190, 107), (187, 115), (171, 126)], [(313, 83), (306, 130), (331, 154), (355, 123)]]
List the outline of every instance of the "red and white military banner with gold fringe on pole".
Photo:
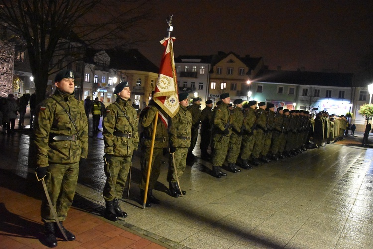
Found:
[[(171, 118), (179, 111), (178, 84), (174, 62), (175, 37), (165, 38), (161, 42), (165, 46), (157, 84), (153, 99)], [(164, 122), (162, 120), (162, 122)]]

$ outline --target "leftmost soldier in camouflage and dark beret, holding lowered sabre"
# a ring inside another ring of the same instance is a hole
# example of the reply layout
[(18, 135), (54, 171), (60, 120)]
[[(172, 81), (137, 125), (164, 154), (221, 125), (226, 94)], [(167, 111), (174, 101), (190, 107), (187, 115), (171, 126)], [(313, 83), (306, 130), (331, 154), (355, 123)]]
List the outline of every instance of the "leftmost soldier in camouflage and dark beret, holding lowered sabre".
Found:
[[(55, 77), (56, 91), (37, 108), (34, 142), (37, 149), (36, 174), (45, 177), (53, 207), (44, 196), (41, 218), (44, 222), (46, 244), (57, 246), (56, 236), (62, 237), (56, 222), (62, 226), (69, 241), (75, 236), (62, 222), (73, 202), (78, 180), (79, 162), (85, 166), (88, 150), (88, 123), (84, 106), (74, 98), (74, 75), (62, 70)], [(58, 220), (51, 208), (55, 209)]]

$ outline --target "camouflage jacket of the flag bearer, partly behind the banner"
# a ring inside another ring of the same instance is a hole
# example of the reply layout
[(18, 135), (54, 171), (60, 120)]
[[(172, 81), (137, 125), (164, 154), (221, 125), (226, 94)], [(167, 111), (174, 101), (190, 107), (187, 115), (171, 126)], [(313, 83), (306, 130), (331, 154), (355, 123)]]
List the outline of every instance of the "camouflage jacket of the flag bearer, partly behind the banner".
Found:
[[(140, 113), (140, 125), (143, 128), (143, 136), (141, 137), (142, 143), (146, 147), (151, 147), (152, 145), (152, 137), (153, 137), (153, 130), (154, 130), (154, 117), (159, 111), (157, 106), (154, 104), (149, 103), (147, 107), (145, 107)], [(168, 119), (169, 116), (162, 112), (162, 115)], [(168, 123), (168, 120), (166, 120)], [(160, 114), (158, 114), (157, 119), (157, 127), (156, 127), (156, 135), (154, 141), (154, 148), (166, 148), (169, 145), (169, 136), (167, 132), (167, 126), (161, 120)]]

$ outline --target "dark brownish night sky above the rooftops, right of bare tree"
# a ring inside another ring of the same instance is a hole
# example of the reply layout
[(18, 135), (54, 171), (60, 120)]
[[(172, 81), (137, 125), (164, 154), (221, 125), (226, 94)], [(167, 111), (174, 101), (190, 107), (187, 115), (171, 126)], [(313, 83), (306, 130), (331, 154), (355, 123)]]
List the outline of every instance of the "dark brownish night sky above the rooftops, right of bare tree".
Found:
[(155, 0), (149, 41), (139, 50), (159, 66), (173, 14), (175, 56), (232, 51), (269, 69), (357, 73), (373, 45), (372, 0)]

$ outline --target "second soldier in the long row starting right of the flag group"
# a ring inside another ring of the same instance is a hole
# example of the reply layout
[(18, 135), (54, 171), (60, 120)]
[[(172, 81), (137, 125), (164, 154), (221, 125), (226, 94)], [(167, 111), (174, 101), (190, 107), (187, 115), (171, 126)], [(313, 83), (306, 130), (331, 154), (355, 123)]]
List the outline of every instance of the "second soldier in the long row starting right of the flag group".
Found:
[(235, 105), (230, 121), (230, 126), (232, 128), (231, 136), (229, 137), (229, 147), (227, 154), (228, 170), (232, 173), (241, 172), (241, 169), (236, 168), (235, 163), (237, 157), (240, 154), (241, 141), (242, 141), (242, 124), (244, 121), (244, 115), (241, 112), (242, 99), (234, 100)]

